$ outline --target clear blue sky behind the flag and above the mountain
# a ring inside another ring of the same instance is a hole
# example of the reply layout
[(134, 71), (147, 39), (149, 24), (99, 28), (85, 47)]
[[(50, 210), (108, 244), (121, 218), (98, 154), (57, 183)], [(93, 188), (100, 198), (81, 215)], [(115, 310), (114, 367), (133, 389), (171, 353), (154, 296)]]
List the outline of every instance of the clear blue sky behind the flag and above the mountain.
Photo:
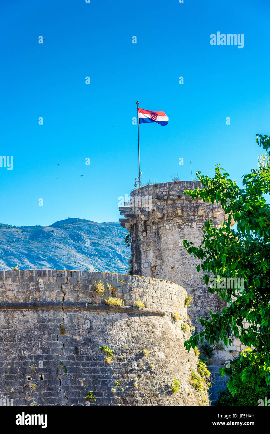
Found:
[[(190, 160), (193, 178), (220, 163), (239, 184), (257, 166), (255, 134), (270, 134), (268, 0), (16, 0), (0, 12), (0, 155), (13, 155), (0, 222), (118, 221), (138, 176), (137, 99), (169, 117), (140, 126), (143, 183), (190, 180)], [(218, 31), (243, 33), (244, 48), (211, 46)]]

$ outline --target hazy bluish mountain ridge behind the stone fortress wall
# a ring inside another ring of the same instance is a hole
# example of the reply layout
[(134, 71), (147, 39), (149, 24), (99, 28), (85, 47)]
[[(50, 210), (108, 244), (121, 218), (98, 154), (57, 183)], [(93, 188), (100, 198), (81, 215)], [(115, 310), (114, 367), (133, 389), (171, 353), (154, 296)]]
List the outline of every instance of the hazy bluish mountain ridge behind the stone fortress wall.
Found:
[(119, 223), (69, 217), (50, 226), (0, 223), (0, 270), (89, 270), (128, 273), (131, 257)]

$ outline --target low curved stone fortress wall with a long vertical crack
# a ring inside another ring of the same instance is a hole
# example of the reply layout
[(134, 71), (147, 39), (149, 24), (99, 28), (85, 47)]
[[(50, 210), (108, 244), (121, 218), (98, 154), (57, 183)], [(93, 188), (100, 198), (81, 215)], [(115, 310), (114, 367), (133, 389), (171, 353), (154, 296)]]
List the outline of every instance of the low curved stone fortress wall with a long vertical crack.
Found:
[[(99, 280), (103, 296), (94, 289)], [(104, 305), (108, 296), (125, 306)], [(185, 296), (181, 286), (149, 277), (0, 271), (0, 398), (13, 405), (199, 405), (189, 382), (198, 359), (184, 349), (189, 327), (181, 328)], [(138, 300), (147, 307), (133, 307)], [(105, 345), (112, 365), (99, 349)], [(180, 389), (172, 394), (174, 378)], [(96, 401), (86, 401), (89, 391)]]

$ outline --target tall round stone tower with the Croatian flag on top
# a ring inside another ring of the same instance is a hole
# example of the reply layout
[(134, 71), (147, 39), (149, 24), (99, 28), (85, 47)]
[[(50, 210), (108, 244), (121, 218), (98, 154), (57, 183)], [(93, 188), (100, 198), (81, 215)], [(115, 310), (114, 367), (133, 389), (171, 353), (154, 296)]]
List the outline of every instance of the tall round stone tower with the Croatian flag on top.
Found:
[[(191, 322), (201, 330), (198, 317), (209, 316), (209, 309), (219, 312), (225, 302), (217, 294), (208, 292), (202, 279), (202, 270), (196, 266), (200, 260), (189, 255), (183, 239), (198, 246), (203, 240), (206, 220), (211, 219), (218, 227), (226, 218), (221, 204), (209, 204), (200, 199), (185, 196), (185, 189), (202, 188), (199, 181), (177, 181), (146, 185), (130, 194), (130, 202), (119, 208), (125, 218), (122, 227), (130, 231), (132, 247), (132, 273), (139, 276), (165, 279), (183, 286), (194, 302), (188, 308)], [(234, 222), (233, 222), (234, 223)], [(236, 349), (236, 348), (235, 348)], [(240, 348), (239, 348), (240, 349)], [(235, 353), (236, 354), (236, 353)], [(219, 368), (228, 357), (227, 351), (215, 351), (210, 368), (214, 379), (212, 401), (217, 391), (226, 388), (226, 379), (219, 375)]]

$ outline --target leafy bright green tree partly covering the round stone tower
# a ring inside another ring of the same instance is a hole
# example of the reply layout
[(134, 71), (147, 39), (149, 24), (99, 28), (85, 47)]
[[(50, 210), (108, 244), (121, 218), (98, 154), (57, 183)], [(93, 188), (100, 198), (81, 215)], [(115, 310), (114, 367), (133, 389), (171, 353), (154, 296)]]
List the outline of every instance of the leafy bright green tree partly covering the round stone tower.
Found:
[[(256, 142), (266, 151), (270, 148), (268, 135), (257, 135)], [(233, 396), (246, 382), (258, 391), (262, 372), (270, 385), (270, 205), (264, 197), (270, 192), (269, 163), (270, 151), (261, 156), (259, 168), (243, 176), (244, 188), (239, 188), (217, 164), (214, 178), (197, 172), (203, 189), (184, 191), (212, 204), (220, 201), (227, 214), (221, 227), (213, 227), (211, 220), (205, 223), (200, 246), (184, 240), (188, 253), (202, 260), (197, 271), (204, 271), (208, 291), (218, 293), (228, 303), (221, 312), (210, 311), (211, 318), (200, 318), (204, 330), (195, 332), (185, 346), (189, 351), (204, 339), (210, 344), (221, 339), (224, 345), (231, 345), (233, 332), (244, 345), (254, 347), (248, 353), (249, 363), (243, 363), (247, 355), (242, 353), (237, 368), (231, 364), (230, 368), (221, 369), (221, 375), (229, 376), (227, 386)], [(232, 219), (237, 221), (237, 230), (230, 227)], [(217, 276), (226, 280), (243, 278), (244, 288), (218, 288)], [(210, 279), (216, 285), (209, 285)], [(249, 323), (247, 327), (244, 319)]]

